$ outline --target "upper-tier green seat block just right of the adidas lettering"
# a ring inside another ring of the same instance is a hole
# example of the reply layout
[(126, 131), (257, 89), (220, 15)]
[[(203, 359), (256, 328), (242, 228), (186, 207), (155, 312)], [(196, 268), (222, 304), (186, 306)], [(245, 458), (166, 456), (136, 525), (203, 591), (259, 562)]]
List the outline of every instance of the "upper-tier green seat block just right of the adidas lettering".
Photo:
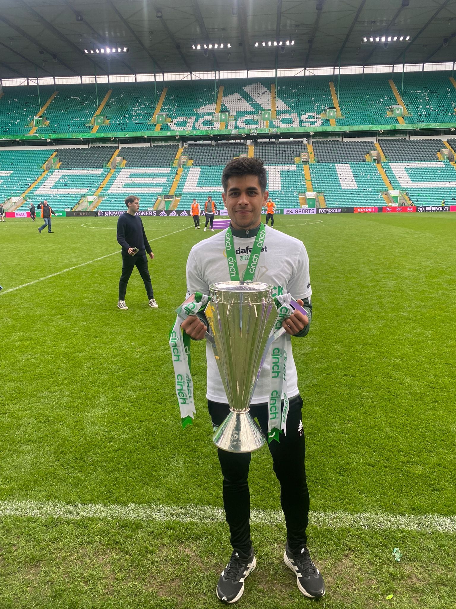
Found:
[(339, 106), (344, 118), (337, 125), (392, 125), (398, 121), (387, 116), (390, 106), (397, 104), (385, 74), (341, 76)]

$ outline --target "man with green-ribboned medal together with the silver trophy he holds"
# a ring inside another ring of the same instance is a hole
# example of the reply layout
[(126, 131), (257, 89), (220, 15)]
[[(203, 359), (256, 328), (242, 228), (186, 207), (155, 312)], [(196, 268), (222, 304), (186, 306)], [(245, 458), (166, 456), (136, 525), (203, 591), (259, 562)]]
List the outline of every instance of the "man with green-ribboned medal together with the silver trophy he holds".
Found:
[(319, 598), (325, 583), (306, 546), (303, 401), (291, 348), (291, 336), (306, 336), (312, 315), (308, 255), (298, 239), (261, 224), (269, 196), (263, 161), (230, 161), (222, 183), (230, 227), (194, 245), (187, 261), (187, 296), (202, 298), (206, 311), (189, 307), (181, 318), (184, 336), (207, 338), (207, 403), (233, 547), (216, 594), (223, 602), (236, 602), (257, 565), (247, 478), (250, 451), (260, 448), (266, 436), (286, 521), (283, 560), (302, 594)]

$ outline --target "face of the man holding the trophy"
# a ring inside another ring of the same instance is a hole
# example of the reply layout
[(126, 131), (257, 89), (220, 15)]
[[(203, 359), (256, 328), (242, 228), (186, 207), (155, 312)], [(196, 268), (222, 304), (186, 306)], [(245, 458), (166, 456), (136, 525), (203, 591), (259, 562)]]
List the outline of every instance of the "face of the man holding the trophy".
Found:
[(257, 175), (231, 177), (222, 199), (233, 228), (249, 230), (260, 224), (261, 208), (268, 200), (268, 191), (261, 192)]

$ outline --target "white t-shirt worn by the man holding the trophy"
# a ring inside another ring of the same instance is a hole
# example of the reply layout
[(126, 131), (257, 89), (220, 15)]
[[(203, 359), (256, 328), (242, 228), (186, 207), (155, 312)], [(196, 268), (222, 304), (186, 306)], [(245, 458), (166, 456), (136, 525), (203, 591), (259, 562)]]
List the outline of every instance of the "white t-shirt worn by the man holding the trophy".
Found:
[[(266, 228), (266, 238), (255, 271), (254, 281), (263, 281), (274, 286), (273, 295), (291, 294), (292, 298), (308, 298), (312, 294), (309, 279), (309, 258), (302, 241)], [(187, 296), (194, 292), (209, 295), (209, 286), (218, 281), (231, 281), (225, 251), (226, 230), (193, 245), (187, 260)], [(247, 267), (255, 237), (248, 239), (233, 236), (240, 277)], [(207, 399), (228, 403), (223, 383), (219, 375), (212, 347), (206, 344), (207, 359)], [(252, 404), (268, 401), (271, 370), (271, 354), (266, 358), (260, 373)], [(287, 345), (286, 378), (288, 397), (299, 393), (296, 366), (291, 350)]]

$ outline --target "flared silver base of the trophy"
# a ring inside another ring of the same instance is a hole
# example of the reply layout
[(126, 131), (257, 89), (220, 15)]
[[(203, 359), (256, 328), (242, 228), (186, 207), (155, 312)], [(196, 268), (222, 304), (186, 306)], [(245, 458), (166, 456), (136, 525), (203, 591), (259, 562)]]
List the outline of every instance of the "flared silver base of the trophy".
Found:
[(266, 442), (263, 432), (249, 412), (235, 412), (223, 421), (212, 437), (217, 448), (227, 452), (252, 452)]

